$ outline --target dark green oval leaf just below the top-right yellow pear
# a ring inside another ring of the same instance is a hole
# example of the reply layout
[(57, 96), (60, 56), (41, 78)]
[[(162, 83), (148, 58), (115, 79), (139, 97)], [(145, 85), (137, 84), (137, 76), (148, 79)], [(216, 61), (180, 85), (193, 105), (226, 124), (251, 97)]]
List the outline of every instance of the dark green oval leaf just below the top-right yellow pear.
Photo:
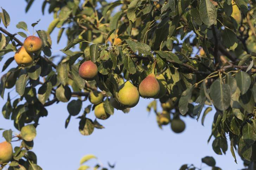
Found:
[(224, 45), (230, 49), (233, 50), (237, 47), (238, 40), (236, 37), (236, 34), (229, 28), (225, 28), (222, 33), (222, 39), (224, 42)]

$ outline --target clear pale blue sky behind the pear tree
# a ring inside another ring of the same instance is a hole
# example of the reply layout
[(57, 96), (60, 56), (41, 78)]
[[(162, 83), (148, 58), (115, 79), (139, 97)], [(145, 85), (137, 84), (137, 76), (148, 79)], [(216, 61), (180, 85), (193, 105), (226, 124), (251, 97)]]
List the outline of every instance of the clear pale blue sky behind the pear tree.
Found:
[[(11, 23), (7, 30), (12, 34), (23, 31), (16, 28), (16, 25), (18, 22), (24, 21), (32, 34), (33, 28), (31, 24), (40, 19), (35, 29), (47, 31), (49, 24), (53, 20), (53, 14), (48, 14), (49, 6), (47, 5), (45, 7), (45, 15), (42, 15), (42, 4), (43, 1), (34, 1), (30, 10), (25, 13), (26, 1), (2, 0), (0, 6), (11, 17)], [(4, 28), (2, 22), (0, 27)], [(55, 28), (51, 34), (52, 52), (63, 49), (66, 46), (64, 35), (57, 45), (58, 31), (59, 29)], [(26, 34), (28, 35), (28, 33)], [(24, 41), (24, 38), (19, 35), (15, 37), (22, 42)], [(58, 54), (62, 55), (59, 52), (52, 53), (52, 55)], [(5, 61), (12, 56), (14, 56), (14, 52), (4, 56), (0, 62), (0, 69), (4, 66)], [(57, 62), (58, 60), (55, 61), (56, 64)], [(17, 64), (13, 61), (4, 72), (0, 73), (0, 76), (14, 67), (17, 67)], [(37, 89), (39, 86), (37, 86)], [(3, 107), (7, 100), (8, 91), (11, 91), (11, 98), (17, 97), (15, 87), (6, 89), (4, 100), (0, 98), (0, 108)], [(71, 98), (71, 100), (74, 99), (76, 98)], [(98, 120), (105, 129), (95, 129), (90, 136), (80, 134), (77, 116), (71, 117), (68, 128), (65, 129), (65, 120), (69, 116), (66, 108), (68, 103), (59, 102), (46, 107), (48, 116), (39, 120), (37, 136), (34, 139), (34, 147), (32, 149), (37, 155), (37, 164), (44, 170), (76, 170), (79, 167), (80, 159), (84, 155), (93, 154), (100, 159), (105, 167), (108, 167), (107, 162), (110, 164), (115, 163), (116, 170), (179, 170), (183, 164), (194, 164), (198, 168), (204, 167), (204, 170), (211, 170), (206, 164), (201, 164), (201, 158), (213, 156), (216, 160), (216, 166), (219, 166), (222, 170), (244, 168), (243, 162), (237, 154), (238, 164), (234, 162), (230, 146), (226, 155), (217, 155), (212, 150), (213, 138), (207, 144), (207, 140), (211, 135), (214, 110), (207, 114), (204, 126), (201, 125), (201, 117), (198, 122), (190, 117), (181, 117), (186, 123), (186, 129), (181, 134), (175, 134), (169, 124), (164, 126), (163, 130), (158, 127), (155, 114), (153, 112), (149, 114), (146, 111), (147, 104), (150, 101), (149, 99), (140, 98), (139, 104), (132, 108), (128, 114), (115, 110), (114, 115), (107, 120)], [(89, 101), (83, 102), (82, 110), (89, 104)], [(81, 114), (82, 111), (80, 112)], [(88, 114), (88, 117), (94, 121), (94, 112), (92, 111)], [(2, 114), (0, 115), (0, 128), (11, 128), (13, 131), (18, 131), (14, 128), (13, 121), (6, 120)], [(3, 141), (5, 139), (3, 137), (0, 138), (0, 142)], [(13, 147), (19, 146), (20, 142), (12, 142), (12, 145)], [(95, 164), (95, 161), (88, 162), (90, 166)]]

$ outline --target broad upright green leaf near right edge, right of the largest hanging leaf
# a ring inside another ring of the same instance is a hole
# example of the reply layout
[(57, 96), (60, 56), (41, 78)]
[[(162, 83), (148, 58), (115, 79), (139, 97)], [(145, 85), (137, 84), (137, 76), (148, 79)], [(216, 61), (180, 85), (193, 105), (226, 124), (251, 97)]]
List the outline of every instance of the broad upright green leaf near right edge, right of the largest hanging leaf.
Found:
[(236, 73), (236, 83), (237, 83), (238, 88), (241, 91), (241, 94), (243, 95), (248, 91), (248, 89), (250, 87), (251, 78), (247, 73), (245, 73), (243, 71), (237, 72)]

